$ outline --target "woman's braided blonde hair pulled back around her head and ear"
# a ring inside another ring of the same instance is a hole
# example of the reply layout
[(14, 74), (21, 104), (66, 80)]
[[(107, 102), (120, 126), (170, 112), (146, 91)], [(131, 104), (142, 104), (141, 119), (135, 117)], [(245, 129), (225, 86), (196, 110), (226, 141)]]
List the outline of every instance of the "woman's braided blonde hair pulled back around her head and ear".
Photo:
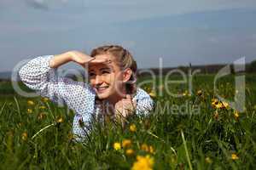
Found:
[(137, 63), (131, 53), (119, 45), (105, 45), (93, 49), (90, 56), (95, 57), (99, 54), (111, 54), (116, 59), (121, 71), (127, 68), (131, 69), (132, 74), (129, 81), (125, 84), (125, 88), (128, 94), (134, 94), (136, 92), (137, 82)]

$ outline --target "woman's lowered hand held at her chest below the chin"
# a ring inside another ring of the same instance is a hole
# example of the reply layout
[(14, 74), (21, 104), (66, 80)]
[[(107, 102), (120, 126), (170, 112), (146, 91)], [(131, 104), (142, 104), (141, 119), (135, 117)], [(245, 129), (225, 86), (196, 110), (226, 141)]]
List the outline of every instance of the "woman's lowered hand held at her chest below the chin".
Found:
[(127, 94), (125, 99), (121, 99), (114, 106), (115, 116), (122, 122), (123, 126), (125, 118), (131, 116), (136, 110), (136, 100), (132, 100), (131, 95)]

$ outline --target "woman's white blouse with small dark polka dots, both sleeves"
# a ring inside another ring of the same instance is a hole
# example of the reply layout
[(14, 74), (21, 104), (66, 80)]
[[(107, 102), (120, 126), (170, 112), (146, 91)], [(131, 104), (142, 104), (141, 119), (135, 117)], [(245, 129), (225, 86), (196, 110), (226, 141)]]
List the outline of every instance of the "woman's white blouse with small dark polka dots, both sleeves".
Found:
[[(54, 55), (44, 55), (31, 59), (20, 68), (20, 80), (51, 101), (67, 105), (75, 112), (73, 133), (77, 141), (82, 141), (90, 133), (93, 116), (101, 115), (101, 107), (96, 105), (96, 93), (89, 84), (75, 82), (68, 77), (59, 77), (57, 69), (49, 67), (49, 59)], [(148, 114), (154, 102), (141, 88), (137, 88), (137, 114)]]

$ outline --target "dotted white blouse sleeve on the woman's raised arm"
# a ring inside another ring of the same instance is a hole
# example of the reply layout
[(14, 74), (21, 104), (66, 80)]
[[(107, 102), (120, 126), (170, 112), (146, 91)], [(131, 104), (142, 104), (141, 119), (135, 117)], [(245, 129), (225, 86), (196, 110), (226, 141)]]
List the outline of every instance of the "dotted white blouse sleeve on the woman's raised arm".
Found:
[[(57, 69), (49, 67), (49, 60), (53, 56), (39, 56), (28, 61), (20, 68), (20, 80), (41, 96), (48, 97), (55, 103), (66, 104), (76, 112), (75, 117), (83, 118), (83, 122), (90, 122), (94, 111), (94, 90), (84, 82), (75, 82), (68, 77), (58, 77)], [(77, 127), (78, 121), (80, 119), (74, 120), (73, 126)], [(81, 131), (81, 129), (73, 130)]]

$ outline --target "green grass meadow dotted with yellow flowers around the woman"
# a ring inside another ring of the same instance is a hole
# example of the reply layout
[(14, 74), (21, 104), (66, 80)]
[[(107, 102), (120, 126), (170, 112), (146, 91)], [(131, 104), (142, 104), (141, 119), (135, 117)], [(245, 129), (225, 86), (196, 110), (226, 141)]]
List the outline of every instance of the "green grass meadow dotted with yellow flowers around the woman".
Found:
[[(191, 95), (186, 84), (165, 87), (157, 82), (163, 95), (143, 85), (154, 98), (154, 111), (131, 117), (125, 128), (95, 122), (84, 144), (73, 142), (73, 111), (40, 97), (23, 98), (9, 82), (0, 82), (0, 169), (253, 169), (256, 75), (246, 75), (244, 112), (212, 103), (213, 78), (194, 77)], [(219, 80), (218, 94), (233, 99), (233, 82), (232, 76)], [(166, 88), (183, 97), (168, 95)], [(165, 109), (184, 104), (200, 111)]]

